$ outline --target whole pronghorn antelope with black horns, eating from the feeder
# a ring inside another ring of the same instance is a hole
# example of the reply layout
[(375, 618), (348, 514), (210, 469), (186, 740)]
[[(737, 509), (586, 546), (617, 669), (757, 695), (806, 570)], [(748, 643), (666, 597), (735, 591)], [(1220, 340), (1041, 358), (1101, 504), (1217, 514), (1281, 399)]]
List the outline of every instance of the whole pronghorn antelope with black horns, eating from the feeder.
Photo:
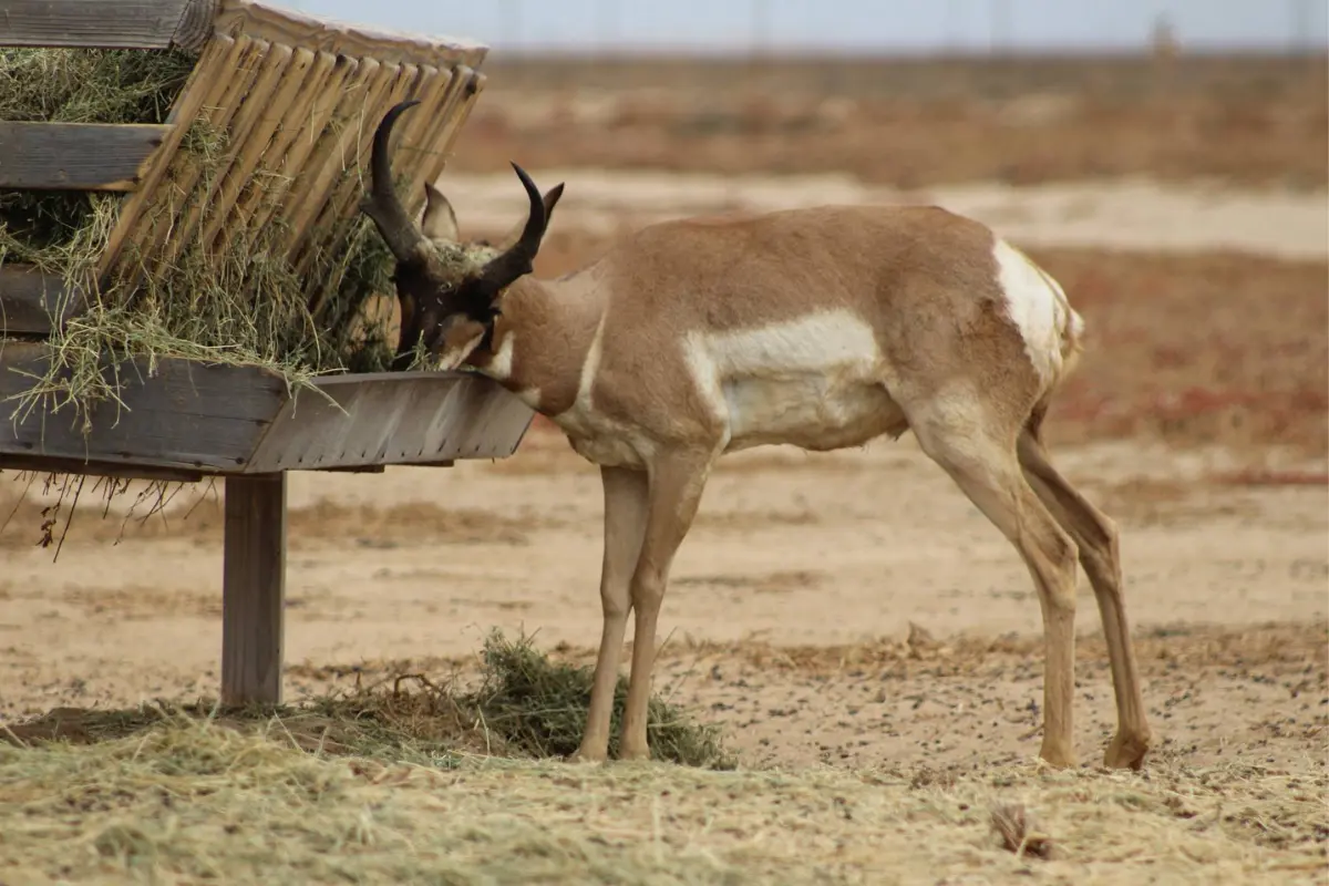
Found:
[(1019, 551), (1043, 611), (1041, 756), (1075, 762), (1076, 557), (1111, 660), (1118, 731), (1106, 762), (1150, 747), (1114, 523), (1049, 461), (1039, 428), (1083, 323), (1061, 287), (987, 227), (937, 207), (824, 206), (642, 228), (558, 280), (530, 276), (562, 185), (528, 218), (464, 243), (429, 189), (420, 224), (393, 191), (395, 106), (361, 203), (396, 256), (403, 360), (417, 339), (552, 418), (599, 465), (603, 632), (577, 757), (607, 754), (627, 616), (634, 643), (619, 756), (647, 757), (646, 707), (670, 563), (707, 477), (763, 444), (859, 446), (913, 430)]

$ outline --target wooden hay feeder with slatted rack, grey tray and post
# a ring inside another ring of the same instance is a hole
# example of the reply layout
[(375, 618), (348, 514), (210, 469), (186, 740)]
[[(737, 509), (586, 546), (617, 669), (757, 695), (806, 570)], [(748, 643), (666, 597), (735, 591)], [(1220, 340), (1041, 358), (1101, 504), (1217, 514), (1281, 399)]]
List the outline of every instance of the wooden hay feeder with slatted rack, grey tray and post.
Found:
[[(0, 122), (0, 187), (120, 191), (97, 274), (171, 254), (197, 226), (253, 236), (279, 215), (299, 264), (339, 248), (356, 222), (373, 128), (397, 101), (423, 108), (400, 126), (400, 193), (424, 183), (484, 85), (486, 48), (340, 25), (249, 0), (7, 0), (0, 46), (166, 49), (198, 53), (167, 122)], [(198, 120), (229, 137), (221, 175), (203, 182), (181, 141)], [(246, 183), (258, 182), (262, 187)], [(170, 193), (170, 197), (167, 197)], [(183, 198), (182, 198), (183, 195)], [(259, 199), (259, 198), (263, 199)], [(207, 213), (202, 207), (207, 206)], [(66, 295), (65, 287), (74, 290)], [(49, 365), (41, 341), (82, 310), (77, 286), (0, 268), (0, 401)], [(190, 360), (121, 363), (120, 404), (15, 424), (5, 410), (0, 469), (146, 480), (223, 477), (222, 700), (282, 695), (286, 472), (451, 465), (516, 452), (533, 413), (473, 375), (342, 375), (295, 388), (275, 372)], [(335, 404), (335, 405), (334, 405)]]

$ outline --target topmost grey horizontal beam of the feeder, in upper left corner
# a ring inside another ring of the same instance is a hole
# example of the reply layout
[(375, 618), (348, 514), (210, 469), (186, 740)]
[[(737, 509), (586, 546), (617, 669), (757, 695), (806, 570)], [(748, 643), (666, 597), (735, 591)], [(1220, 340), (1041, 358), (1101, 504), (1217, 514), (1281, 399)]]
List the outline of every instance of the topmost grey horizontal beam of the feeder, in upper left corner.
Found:
[(218, 0), (5, 0), (0, 46), (198, 49)]

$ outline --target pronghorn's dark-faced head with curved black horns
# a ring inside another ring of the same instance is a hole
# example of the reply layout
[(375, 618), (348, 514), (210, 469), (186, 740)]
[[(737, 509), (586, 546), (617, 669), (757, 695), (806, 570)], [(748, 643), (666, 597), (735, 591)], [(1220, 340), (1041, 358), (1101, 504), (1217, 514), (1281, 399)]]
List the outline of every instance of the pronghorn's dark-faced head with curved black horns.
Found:
[(396, 259), (393, 282), (401, 306), (401, 336), (393, 369), (408, 368), (420, 343), (439, 368), (456, 369), (476, 348), (488, 347), (494, 320), (502, 313), (504, 292), (532, 272), (563, 186), (541, 197), (526, 171), (513, 163), (530, 209), (526, 219), (497, 244), (464, 242), (452, 205), (433, 185), (425, 185), (424, 217), (416, 224), (393, 189), (388, 143), (397, 117), (417, 104), (395, 105), (379, 124), (369, 159), (369, 194), (360, 210), (373, 221)]

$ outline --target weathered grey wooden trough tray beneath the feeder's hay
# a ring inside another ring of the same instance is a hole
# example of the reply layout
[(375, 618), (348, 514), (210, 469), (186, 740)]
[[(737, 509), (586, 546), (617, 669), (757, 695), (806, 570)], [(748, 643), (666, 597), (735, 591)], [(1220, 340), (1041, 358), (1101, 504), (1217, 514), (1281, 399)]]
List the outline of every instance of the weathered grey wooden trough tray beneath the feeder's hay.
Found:
[[(25, 400), (49, 375), (51, 359), (45, 343), (0, 341), (8, 422), (0, 456), (205, 476), (433, 465), (510, 456), (534, 416), (469, 372), (344, 375), (288, 388), (260, 367), (173, 357), (108, 359), (102, 377), (116, 397), (77, 414), (68, 405), (53, 410), (58, 387), (53, 400)], [(68, 371), (56, 376), (70, 379)]]

